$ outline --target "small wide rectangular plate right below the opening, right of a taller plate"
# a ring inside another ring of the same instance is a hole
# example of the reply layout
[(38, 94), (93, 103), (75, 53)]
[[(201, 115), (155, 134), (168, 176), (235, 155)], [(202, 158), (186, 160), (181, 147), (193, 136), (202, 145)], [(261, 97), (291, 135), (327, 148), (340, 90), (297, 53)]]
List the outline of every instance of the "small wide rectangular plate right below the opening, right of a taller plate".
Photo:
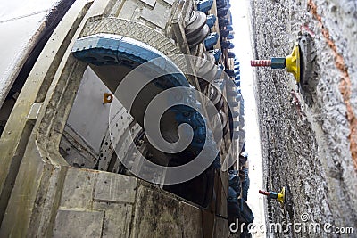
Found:
[(94, 201), (134, 203), (137, 179), (100, 172), (95, 181)]

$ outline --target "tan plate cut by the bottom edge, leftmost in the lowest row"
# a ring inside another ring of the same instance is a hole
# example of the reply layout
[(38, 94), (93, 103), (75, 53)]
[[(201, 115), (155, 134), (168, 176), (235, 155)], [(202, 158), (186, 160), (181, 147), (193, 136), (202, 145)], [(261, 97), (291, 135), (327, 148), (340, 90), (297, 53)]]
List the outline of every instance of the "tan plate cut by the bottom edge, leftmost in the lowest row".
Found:
[(103, 211), (58, 210), (54, 237), (101, 237)]

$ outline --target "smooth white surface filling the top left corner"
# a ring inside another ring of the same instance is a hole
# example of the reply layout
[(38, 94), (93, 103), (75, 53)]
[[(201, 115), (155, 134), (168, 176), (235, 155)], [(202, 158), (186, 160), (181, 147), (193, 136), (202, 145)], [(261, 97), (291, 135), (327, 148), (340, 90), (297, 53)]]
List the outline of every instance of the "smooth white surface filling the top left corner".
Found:
[(31, 49), (31, 39), (58, 0), (0, 0), (0, 106)]

